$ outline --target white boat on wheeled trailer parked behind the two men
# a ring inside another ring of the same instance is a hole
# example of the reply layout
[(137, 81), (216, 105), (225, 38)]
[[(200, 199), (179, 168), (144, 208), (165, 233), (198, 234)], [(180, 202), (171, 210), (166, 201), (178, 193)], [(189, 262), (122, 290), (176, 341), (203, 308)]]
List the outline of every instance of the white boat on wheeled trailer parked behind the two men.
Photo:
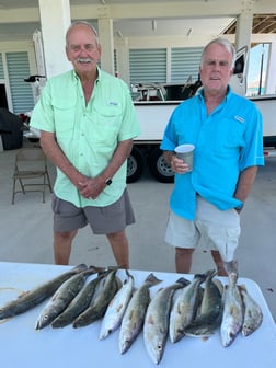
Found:
[[(243, 47), (237, 53), (234, 74), (231, 80), (232, 89), (241, 95), (245, 94), (246, 80), (243, 76), (245, 62), (246, 48)], [(159, 148), (160, 142), (173, 110), (181, 101), (193, 96), (199, 85), (199, 81), (191, 83), (189, 80), (185, 84), (135, 85), (133, 96), (141, 134), (134, 140), (133, 151), (128, 158), (128, 183), (139, 180), (146, 165), (159, 182), (173, 182), (174, 173), (164, 161), (163, 152)], [(263, 115), (264, 148), (276, 148), (276, 95), (261, 95), (250, 100), (258, 106)], [(274, 156), (274, 152), (265, 150), (264, 156)]]

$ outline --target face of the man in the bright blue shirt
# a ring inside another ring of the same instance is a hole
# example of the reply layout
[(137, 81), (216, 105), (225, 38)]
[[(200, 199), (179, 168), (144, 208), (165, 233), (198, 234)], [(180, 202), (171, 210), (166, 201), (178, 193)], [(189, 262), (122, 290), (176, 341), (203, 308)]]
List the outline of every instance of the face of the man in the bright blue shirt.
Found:
[(219, 44), (211, 44), (206, 50), (200, 68), (205, 92), (212, 95), (226, 93), (232, 73), (231, 53)]

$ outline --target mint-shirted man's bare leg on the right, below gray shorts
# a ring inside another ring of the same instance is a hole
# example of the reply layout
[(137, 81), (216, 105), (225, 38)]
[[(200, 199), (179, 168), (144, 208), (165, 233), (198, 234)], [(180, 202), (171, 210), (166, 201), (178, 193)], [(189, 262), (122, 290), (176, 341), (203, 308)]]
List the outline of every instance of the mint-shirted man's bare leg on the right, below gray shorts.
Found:
[(128, 240), (125, 230), (106, 235), (119, 268), (129, 268)]

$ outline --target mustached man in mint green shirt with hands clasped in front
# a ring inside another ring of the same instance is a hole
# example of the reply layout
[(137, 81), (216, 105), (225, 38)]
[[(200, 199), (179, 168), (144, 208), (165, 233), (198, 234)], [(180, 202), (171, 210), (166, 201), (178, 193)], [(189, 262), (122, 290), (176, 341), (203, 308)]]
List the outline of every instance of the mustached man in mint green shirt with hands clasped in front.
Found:
[(101, 45), (87, 22), (66, 35), (73, 69), (46, 83), (32, 114), (41, 145), (57, 166), (54, 186), (54, 255), (68, 264), (78, 229), (106, 234), (120, 267), (128, 268), (125, 227), (134, 223), (126, 188), (127, 157), (139, 135), (127, 85), (96, 66)]

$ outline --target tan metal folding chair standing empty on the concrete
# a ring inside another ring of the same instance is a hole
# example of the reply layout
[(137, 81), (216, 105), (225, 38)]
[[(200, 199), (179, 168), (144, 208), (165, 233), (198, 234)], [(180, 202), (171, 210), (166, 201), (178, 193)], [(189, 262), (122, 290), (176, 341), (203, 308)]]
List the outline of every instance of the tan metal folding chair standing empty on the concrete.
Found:
[[(53, 192), (47, 159), (41, 148), (22, 148), (19, 150), (15, 156), (12, 179), (12, 204), (14, 204), (16, 193), (42, 192), (43, 203), (45, 203), (46, 186)], [(16, 182), (19, 182), (20, 185), (16, 185)], [(16, 188), (19, 186), (20, 188)]]

